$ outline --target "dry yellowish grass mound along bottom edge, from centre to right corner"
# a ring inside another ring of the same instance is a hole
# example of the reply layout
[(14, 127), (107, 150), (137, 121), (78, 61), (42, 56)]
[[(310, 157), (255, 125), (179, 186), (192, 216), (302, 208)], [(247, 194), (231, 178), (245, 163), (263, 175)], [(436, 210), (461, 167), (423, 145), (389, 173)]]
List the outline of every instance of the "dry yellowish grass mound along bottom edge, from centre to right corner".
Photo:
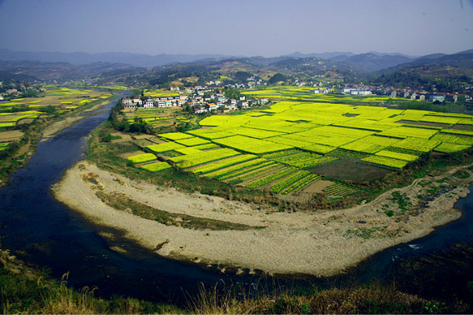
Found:
[(280, 292), (236, 298), (231, 290), (200, 290), (193, 314), (467, 314), (463, 302), (446, 304), (400, 292), (395, 285)]

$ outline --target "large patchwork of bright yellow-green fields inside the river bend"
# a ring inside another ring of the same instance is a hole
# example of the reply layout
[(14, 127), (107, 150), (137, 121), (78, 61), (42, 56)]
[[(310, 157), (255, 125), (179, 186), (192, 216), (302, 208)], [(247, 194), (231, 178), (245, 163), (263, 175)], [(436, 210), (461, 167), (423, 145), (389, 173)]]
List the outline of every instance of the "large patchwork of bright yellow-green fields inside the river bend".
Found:
[[(162, 133), (158, 137), (165, 142), (144, 150), (201, 177), (299, 201), (318, 192), (328, 198), (357, 193), (318, 174), (330, 163), (351, 160), (394, 171), (431, 151), (455, 153), (473, 146), (471, 115), (386, 107), (285, 101), (261, 112), (210, 116), (200, 125), (208, 128)], [(152, 164), (139, 162), (143, 155), (128, 159), (151, 171), (167, 168), (147, 156)]]

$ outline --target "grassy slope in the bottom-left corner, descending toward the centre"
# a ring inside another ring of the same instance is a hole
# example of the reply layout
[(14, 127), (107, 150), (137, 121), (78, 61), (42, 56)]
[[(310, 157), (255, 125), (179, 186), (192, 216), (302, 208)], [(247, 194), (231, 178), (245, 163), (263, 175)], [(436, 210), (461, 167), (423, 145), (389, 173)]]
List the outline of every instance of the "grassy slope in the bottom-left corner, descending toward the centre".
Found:
[(68, 273), (54, 281), (26, 268), (0, 249), (1, 314), (181, 314), (173, 305), (153, 304), (128, 297), (101, 299), (96, 288), (74, 290), (67, 285)]

